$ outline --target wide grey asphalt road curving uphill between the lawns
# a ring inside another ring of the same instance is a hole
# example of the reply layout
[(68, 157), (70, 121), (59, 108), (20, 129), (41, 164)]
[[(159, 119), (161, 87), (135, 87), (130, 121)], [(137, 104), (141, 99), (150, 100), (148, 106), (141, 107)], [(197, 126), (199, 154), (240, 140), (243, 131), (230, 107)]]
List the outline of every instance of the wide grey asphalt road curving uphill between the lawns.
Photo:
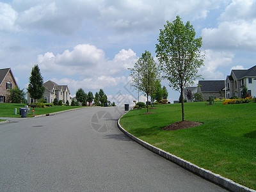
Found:
[(130, 140), (124, 108), (0, 124), (0, 191), (225, 191)]

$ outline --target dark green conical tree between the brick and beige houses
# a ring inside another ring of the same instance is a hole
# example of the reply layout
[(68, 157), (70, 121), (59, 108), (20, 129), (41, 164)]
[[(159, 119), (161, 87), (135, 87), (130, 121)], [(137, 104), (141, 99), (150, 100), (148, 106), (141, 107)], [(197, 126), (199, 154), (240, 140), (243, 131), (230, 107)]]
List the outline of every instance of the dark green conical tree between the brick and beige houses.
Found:
[(44, 80), (40, 72), (38, 65), (35, 65), (31, 70), (31, 76), (29, 77), (28, 92), (31, 98), (41, 99), (44, 95)]

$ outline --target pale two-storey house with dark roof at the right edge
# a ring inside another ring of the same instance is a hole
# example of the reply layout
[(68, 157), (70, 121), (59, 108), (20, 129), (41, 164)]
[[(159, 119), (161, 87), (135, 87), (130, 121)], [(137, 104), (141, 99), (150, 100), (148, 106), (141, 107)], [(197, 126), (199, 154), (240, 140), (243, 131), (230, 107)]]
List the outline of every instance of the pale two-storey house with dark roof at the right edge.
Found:
[(249, 69), (231, 70), (226, 78), (227, 98), (242, 97), (243, 86), (248, 89), (248, 94), (256, 97), (256, 65)]

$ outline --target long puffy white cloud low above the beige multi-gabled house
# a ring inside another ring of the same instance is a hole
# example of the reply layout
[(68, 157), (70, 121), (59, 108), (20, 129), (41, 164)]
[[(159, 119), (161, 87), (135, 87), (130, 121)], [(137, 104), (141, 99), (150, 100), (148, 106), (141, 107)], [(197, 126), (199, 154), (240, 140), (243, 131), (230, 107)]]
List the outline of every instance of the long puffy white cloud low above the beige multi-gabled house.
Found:
[(61, 72), (63, 75), (72, 76), (105, 76), (116, 75), (122, 70), (132, 67), (137, 61), (137, 56), (132, 49), (122, 49), (113, 60), (105, 58), (102, 49), (94, 45), (76, 45), (72, 51), (68, 49), (62, 54), (54, 56), (52, 52), (38, 55), (38, 63), (46, 72)]

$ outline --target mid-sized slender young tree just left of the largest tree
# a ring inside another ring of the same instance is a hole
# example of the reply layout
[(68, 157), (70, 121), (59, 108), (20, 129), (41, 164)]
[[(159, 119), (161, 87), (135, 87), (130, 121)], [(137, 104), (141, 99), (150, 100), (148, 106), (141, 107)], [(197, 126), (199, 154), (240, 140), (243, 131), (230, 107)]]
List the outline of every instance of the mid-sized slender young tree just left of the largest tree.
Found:
[(145, 51), (141, 54), (141, 58), (134, 64), (131, 69), (131, 77), (133, 77), (133, 86), (141, 90), (147, 96), (147, 112), (148, 112), (148, 96), (152, 95), (159, 81), (159, 72), (156, 62), (151, 53)]

